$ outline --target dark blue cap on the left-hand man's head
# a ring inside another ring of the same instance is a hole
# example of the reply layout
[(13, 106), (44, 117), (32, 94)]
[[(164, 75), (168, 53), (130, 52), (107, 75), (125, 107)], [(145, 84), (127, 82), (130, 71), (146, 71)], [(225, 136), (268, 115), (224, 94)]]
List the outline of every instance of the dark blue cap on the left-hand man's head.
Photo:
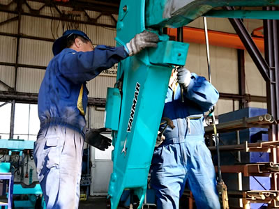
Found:
[(52, 52), (53, 52), (54, 56), (56, 54), (59, 54), (66, 47), (66, 39), (73, 34), (82, 36), (83, 38), (85, 38), (86, 40), (89, 40), (91, 42), (90, 38), (82, 31), (78, 31), (78, 30), (65, 31), (63, 33), (63, 36), (61, 36), (60, 38), (57, 38), (52, 45)]

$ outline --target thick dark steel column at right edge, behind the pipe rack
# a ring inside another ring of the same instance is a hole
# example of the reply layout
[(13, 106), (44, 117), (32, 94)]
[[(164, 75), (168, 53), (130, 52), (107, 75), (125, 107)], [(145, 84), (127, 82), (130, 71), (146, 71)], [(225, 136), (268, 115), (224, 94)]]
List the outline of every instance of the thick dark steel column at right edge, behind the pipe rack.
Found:
[[(274, 8), (267, 7), (266, 10), (274, 10)], [(269, 63), (269, 77), (270, 82), (266, 82), (266, 97), (267, 109), (276, 120), (278, 120), (278, 21), (277, 20), (264, 20), (264, 55), (267, 63)], [(269, 141), (278, 141), (278, 125), (272, 125), (269, 129)], [(273, 148), (269, 155), (269, 161), (274, 163), (278, 160), (278, 149)], [(278, 189), (277, 174), (271, 178), (271, 189)]]

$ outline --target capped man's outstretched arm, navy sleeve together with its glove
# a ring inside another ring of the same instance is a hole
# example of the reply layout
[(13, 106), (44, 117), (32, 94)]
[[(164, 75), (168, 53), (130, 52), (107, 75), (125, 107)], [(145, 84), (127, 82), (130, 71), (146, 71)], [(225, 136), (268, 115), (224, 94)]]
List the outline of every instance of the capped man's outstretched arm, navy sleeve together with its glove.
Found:
[(146, 47), (157, 47), (159, 41), (156, 33), (143, 31), (135, 35), (130, 42), (123, 47), (107, 47), (98, 45), (91, 52), (75, 52), (69, 50), (62, 57), (61, 73), (74, 83), (84, 83), (100, 74), (103, 70), (112, 68), (127, 56), (138, 54)]

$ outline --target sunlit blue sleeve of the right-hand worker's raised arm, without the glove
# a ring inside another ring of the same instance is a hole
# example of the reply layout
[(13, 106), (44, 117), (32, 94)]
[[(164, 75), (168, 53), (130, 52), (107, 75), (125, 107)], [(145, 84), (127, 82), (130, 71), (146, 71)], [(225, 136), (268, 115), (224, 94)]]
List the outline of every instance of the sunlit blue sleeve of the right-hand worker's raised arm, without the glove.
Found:
[(190, 84), (184, 95), (201, 107), (202, 111), (209, 111), (218, 101), (219, 93), (204, 77), (192, 74)]

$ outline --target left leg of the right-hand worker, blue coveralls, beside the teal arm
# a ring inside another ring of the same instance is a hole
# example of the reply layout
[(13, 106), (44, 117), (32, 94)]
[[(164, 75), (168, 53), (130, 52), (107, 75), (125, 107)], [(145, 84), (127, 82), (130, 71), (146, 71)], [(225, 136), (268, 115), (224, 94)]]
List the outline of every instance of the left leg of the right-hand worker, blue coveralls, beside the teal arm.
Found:
[(180, 194), (186, 182), (183, 156), (181, 144), (159, 146), (154, 152), (151, 187), (156, 191), (158, 209), (179, 209)]

